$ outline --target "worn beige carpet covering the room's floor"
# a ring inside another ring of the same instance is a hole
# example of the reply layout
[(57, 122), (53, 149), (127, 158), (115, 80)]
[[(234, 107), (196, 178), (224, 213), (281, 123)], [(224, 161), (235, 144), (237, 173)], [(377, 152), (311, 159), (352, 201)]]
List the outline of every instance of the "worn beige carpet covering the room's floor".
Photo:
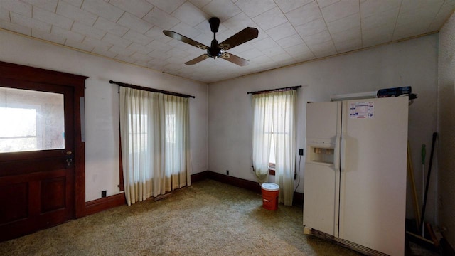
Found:
[(302, 208), (212, 180), (0, 243), (0, 255), (358, 255), (303, 234)]

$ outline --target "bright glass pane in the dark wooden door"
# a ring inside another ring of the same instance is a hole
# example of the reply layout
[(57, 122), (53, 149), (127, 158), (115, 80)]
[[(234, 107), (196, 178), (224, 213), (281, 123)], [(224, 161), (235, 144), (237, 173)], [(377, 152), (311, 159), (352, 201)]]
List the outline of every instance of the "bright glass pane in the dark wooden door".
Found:
[(65, 148), (63, 94), (0, 87), (0, 153)]

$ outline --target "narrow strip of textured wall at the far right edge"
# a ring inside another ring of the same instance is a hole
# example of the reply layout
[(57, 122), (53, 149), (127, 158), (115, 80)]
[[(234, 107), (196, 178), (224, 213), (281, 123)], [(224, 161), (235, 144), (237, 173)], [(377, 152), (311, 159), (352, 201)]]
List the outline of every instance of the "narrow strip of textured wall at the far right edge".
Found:
[(444, 235), (455, 246), (455, 15), (439, 33), (439, 207)]

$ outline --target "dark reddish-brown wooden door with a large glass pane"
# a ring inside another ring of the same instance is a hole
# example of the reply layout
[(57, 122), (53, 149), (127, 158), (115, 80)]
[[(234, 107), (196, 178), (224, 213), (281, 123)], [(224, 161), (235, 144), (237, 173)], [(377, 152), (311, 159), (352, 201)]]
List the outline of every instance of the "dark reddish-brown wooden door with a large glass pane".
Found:
[(0, 241), (75, 218), (75, 87), (0, 77)]

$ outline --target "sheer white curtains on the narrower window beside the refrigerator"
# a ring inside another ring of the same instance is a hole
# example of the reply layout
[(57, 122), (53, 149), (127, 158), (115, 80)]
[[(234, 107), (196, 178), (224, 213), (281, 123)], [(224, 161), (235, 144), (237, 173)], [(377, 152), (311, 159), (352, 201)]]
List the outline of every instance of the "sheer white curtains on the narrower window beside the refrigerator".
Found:
[(274, 146), (279, 202), (292, 205), (296, 154), (296, 90), (253, 95), (253, 167), (259, 183), (267, 181)]

